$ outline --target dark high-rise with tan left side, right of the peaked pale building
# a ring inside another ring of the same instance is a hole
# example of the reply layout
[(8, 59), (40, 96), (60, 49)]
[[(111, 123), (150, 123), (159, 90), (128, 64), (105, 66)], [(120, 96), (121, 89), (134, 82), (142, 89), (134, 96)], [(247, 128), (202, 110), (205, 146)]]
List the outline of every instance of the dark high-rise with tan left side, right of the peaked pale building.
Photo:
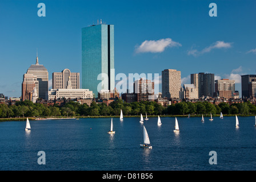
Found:
[(191, 74), (191, 84), (198, 86), (198, 98), (203, 96), (213, 97), (214, 95), (214, 74), (195, 73)]

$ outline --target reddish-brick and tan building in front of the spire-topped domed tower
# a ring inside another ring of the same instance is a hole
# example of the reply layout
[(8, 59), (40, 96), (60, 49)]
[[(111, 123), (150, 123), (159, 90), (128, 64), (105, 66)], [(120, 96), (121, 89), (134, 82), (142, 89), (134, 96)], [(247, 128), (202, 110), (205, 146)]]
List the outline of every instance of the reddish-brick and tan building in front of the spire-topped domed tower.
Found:
[[(32, 101), (32, 96), (34, 89), (38, 92), (39, 81), (37, 80), (37, 76), (33, 74), (25, 73), (23, 75), (22, 81), (22, 101), (29, 100)], [(38, 97), (34, 96), (34, 100), (37, 100)]]

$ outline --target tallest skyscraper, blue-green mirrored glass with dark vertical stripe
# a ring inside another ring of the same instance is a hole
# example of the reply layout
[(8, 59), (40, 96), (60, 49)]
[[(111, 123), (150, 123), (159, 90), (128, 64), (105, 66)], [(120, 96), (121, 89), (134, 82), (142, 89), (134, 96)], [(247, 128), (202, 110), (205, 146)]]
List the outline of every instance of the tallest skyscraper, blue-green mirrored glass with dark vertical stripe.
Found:
[(97, 24), (82, 28), (82, 88), (114, 90), (114, 25)]

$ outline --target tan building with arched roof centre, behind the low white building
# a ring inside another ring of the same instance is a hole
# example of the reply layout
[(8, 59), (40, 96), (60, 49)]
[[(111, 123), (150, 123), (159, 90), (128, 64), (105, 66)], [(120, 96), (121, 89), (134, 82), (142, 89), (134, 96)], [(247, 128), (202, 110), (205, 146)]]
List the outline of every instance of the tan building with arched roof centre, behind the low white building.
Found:
[(69, 69), (64, 69), (61, 73), (53, 73), (52, 87), (53, 89), (67, 89), (69, 80), (70, 89), (80, 88), (80, 73), (71, 73)]

